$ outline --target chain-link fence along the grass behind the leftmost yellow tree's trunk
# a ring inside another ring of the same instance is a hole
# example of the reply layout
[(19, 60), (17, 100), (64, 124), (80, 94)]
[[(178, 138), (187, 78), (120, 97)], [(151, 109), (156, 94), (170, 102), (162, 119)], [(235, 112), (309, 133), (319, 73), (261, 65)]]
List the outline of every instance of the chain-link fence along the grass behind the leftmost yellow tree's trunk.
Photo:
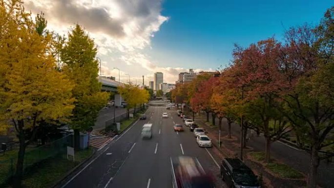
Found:
[[(45, 144), (43, 146), (27, 147), (24, 155), (23, 171), (50, 157), (63, 157), (67, 153), (67, 146), (72, 146), (72, 135)], [(19, 148), (0, 154), (0, 187), (15, 174)]]

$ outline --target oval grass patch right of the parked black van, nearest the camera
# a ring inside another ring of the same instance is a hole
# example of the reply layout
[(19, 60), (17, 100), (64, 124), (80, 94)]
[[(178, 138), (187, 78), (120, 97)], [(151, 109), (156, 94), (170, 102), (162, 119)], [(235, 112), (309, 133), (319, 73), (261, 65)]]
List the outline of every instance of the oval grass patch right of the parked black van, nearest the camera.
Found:
[(266, 167), (281, 178), (301, 179), (304, 177), (302, 173), (285, 164), (269, 163)]

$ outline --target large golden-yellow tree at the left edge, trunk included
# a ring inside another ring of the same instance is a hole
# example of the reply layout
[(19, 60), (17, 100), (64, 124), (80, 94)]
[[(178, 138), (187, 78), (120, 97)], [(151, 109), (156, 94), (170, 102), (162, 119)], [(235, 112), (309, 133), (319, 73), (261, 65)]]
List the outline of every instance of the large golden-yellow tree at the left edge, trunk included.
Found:
[(0, 0), (0, 129), (14, 126), (19, 139), (15, 188), (21, 187), (26, 146), (41, 121), (66, 121), (74, 108), (72, 82), (55, 70), (46, 53), (49, 34), (40, 35), (20, 0)]

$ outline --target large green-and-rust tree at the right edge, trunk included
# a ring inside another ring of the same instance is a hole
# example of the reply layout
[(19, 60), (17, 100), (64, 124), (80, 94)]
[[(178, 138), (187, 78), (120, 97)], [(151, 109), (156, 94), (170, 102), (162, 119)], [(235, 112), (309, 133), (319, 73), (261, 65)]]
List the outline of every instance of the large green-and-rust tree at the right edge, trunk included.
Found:
[[(334, 7), (319, 26), (303, 25), (286, 33), (287, 56), (282, 71), (290, 90), (282, 92), (285, 116), (293, 125), (297, 143), (311, 156), (307, 187), (316, 187), (319, 150), (334, 144)], [(330, 156), (327, 156), (330, 157)]]

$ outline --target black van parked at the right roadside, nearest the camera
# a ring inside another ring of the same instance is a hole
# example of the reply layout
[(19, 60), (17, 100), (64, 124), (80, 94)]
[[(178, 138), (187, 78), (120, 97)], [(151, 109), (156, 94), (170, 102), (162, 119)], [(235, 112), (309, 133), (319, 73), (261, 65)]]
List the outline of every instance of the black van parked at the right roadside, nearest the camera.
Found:
[(238, 158), (222, 160), (220, 177), (229, 188), (260, 188), (257, 176)]

